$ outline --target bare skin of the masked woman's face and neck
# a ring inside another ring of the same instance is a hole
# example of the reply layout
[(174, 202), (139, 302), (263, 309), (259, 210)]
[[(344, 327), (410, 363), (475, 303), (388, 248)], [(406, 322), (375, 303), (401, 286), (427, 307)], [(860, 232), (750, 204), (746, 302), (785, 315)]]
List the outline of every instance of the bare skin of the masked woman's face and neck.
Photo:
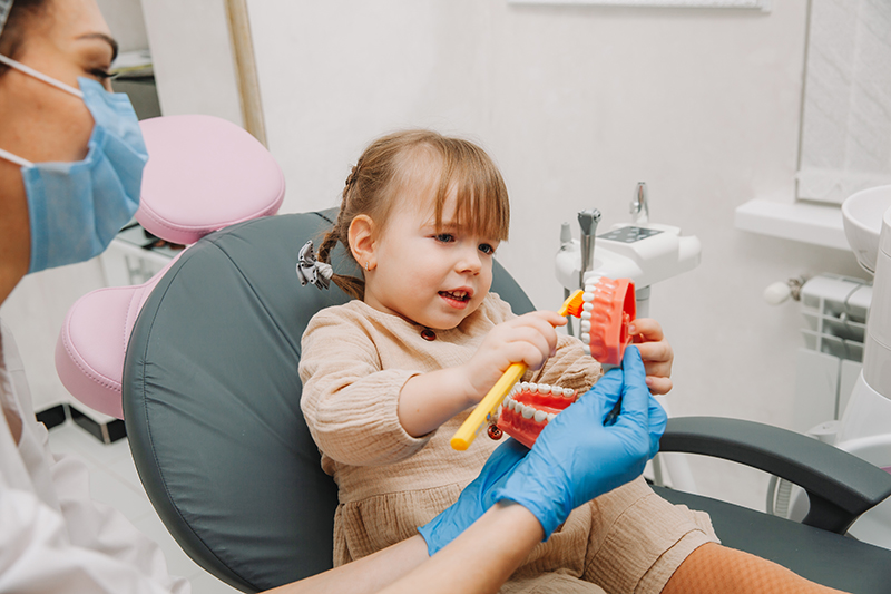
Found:
[[(95, 0), (47, 0), (41, 12), (19, 26), (14, 32), (21, 43), (9, 58), (75, 88), (78, 77), (108, 87), (117, 43)], [(4, 41), (10, 38), (4, 35)], [(87, 155), (92, 116), (68, 92), (8, 68), (0, 76), (0, 147), (10, 153), (32, 163), (75, 162)], [(0, 303), (28, 272), (30, 245), (20, 168), (0, 159)]]

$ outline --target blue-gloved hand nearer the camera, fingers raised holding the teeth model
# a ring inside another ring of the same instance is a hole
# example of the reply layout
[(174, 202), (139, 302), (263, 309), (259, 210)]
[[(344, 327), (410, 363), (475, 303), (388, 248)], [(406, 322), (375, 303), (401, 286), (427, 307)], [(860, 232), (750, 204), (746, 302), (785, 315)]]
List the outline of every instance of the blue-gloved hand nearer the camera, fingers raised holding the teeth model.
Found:
[[(619, 398), (620, 412), (605, 427)], [(658, 451), (665, 423), (665, 411), (647, 389), (640, 353), (629, 345), (621, 369), (608, 371), (545, 427), (492, 491), (492, 502), (510, 499), (529, 509), (547, 541), (572, 509), (639, 476)]]

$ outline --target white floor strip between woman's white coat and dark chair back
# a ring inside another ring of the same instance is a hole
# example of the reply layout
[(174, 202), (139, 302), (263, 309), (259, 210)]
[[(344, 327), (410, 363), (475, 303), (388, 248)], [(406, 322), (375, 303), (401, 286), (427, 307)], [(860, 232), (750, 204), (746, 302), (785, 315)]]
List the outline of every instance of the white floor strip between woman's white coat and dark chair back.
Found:
[(167, 557), (169, 572), (187, 577), (194, 594), (238, 592), (196, 565), (167, 533), (139, 483), (127, 438), (104, 445), (69, 420), (50, 429), (49, 442), (55, 454), (75, 454), (87, 464), (94, 498), (115, 506), (154, 538)]

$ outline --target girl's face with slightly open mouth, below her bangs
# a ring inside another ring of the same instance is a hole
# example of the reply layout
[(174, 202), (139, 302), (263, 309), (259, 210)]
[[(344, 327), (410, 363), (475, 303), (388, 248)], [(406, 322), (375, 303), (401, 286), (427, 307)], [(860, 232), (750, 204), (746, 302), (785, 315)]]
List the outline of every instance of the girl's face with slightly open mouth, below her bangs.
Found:
[(373, 243), (365, 303), (427, 328), (447, 330), (473, 313), (489, 293), (499, 242), (454, 224), (454, 193), (437, 230), (432, 192), (428, 195), (427, 199), (395, 197), (405, 206), (393, 210)]

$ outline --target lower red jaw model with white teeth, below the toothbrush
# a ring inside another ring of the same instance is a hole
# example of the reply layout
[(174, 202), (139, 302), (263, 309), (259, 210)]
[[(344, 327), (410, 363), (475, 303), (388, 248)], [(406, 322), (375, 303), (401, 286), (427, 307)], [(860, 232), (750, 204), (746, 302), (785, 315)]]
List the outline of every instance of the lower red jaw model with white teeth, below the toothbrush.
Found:
[(541, 429), (575, 402), (576, 398), (578, 392), (570, 388), (547, 383), (517, 383), (501, 402), (498, 428), (531, 448)]

